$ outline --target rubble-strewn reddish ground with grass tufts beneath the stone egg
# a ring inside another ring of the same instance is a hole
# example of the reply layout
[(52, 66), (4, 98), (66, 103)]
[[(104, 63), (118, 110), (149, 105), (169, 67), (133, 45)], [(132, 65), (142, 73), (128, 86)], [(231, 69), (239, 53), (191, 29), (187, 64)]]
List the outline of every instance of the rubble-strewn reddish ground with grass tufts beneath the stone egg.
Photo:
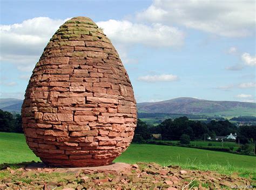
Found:
[(253, 188), (254, 182), (235, 173), (224, 175), (142, 162), (104, 168), (30, 165), (0, 171), (0, 189), (241, 189)]

